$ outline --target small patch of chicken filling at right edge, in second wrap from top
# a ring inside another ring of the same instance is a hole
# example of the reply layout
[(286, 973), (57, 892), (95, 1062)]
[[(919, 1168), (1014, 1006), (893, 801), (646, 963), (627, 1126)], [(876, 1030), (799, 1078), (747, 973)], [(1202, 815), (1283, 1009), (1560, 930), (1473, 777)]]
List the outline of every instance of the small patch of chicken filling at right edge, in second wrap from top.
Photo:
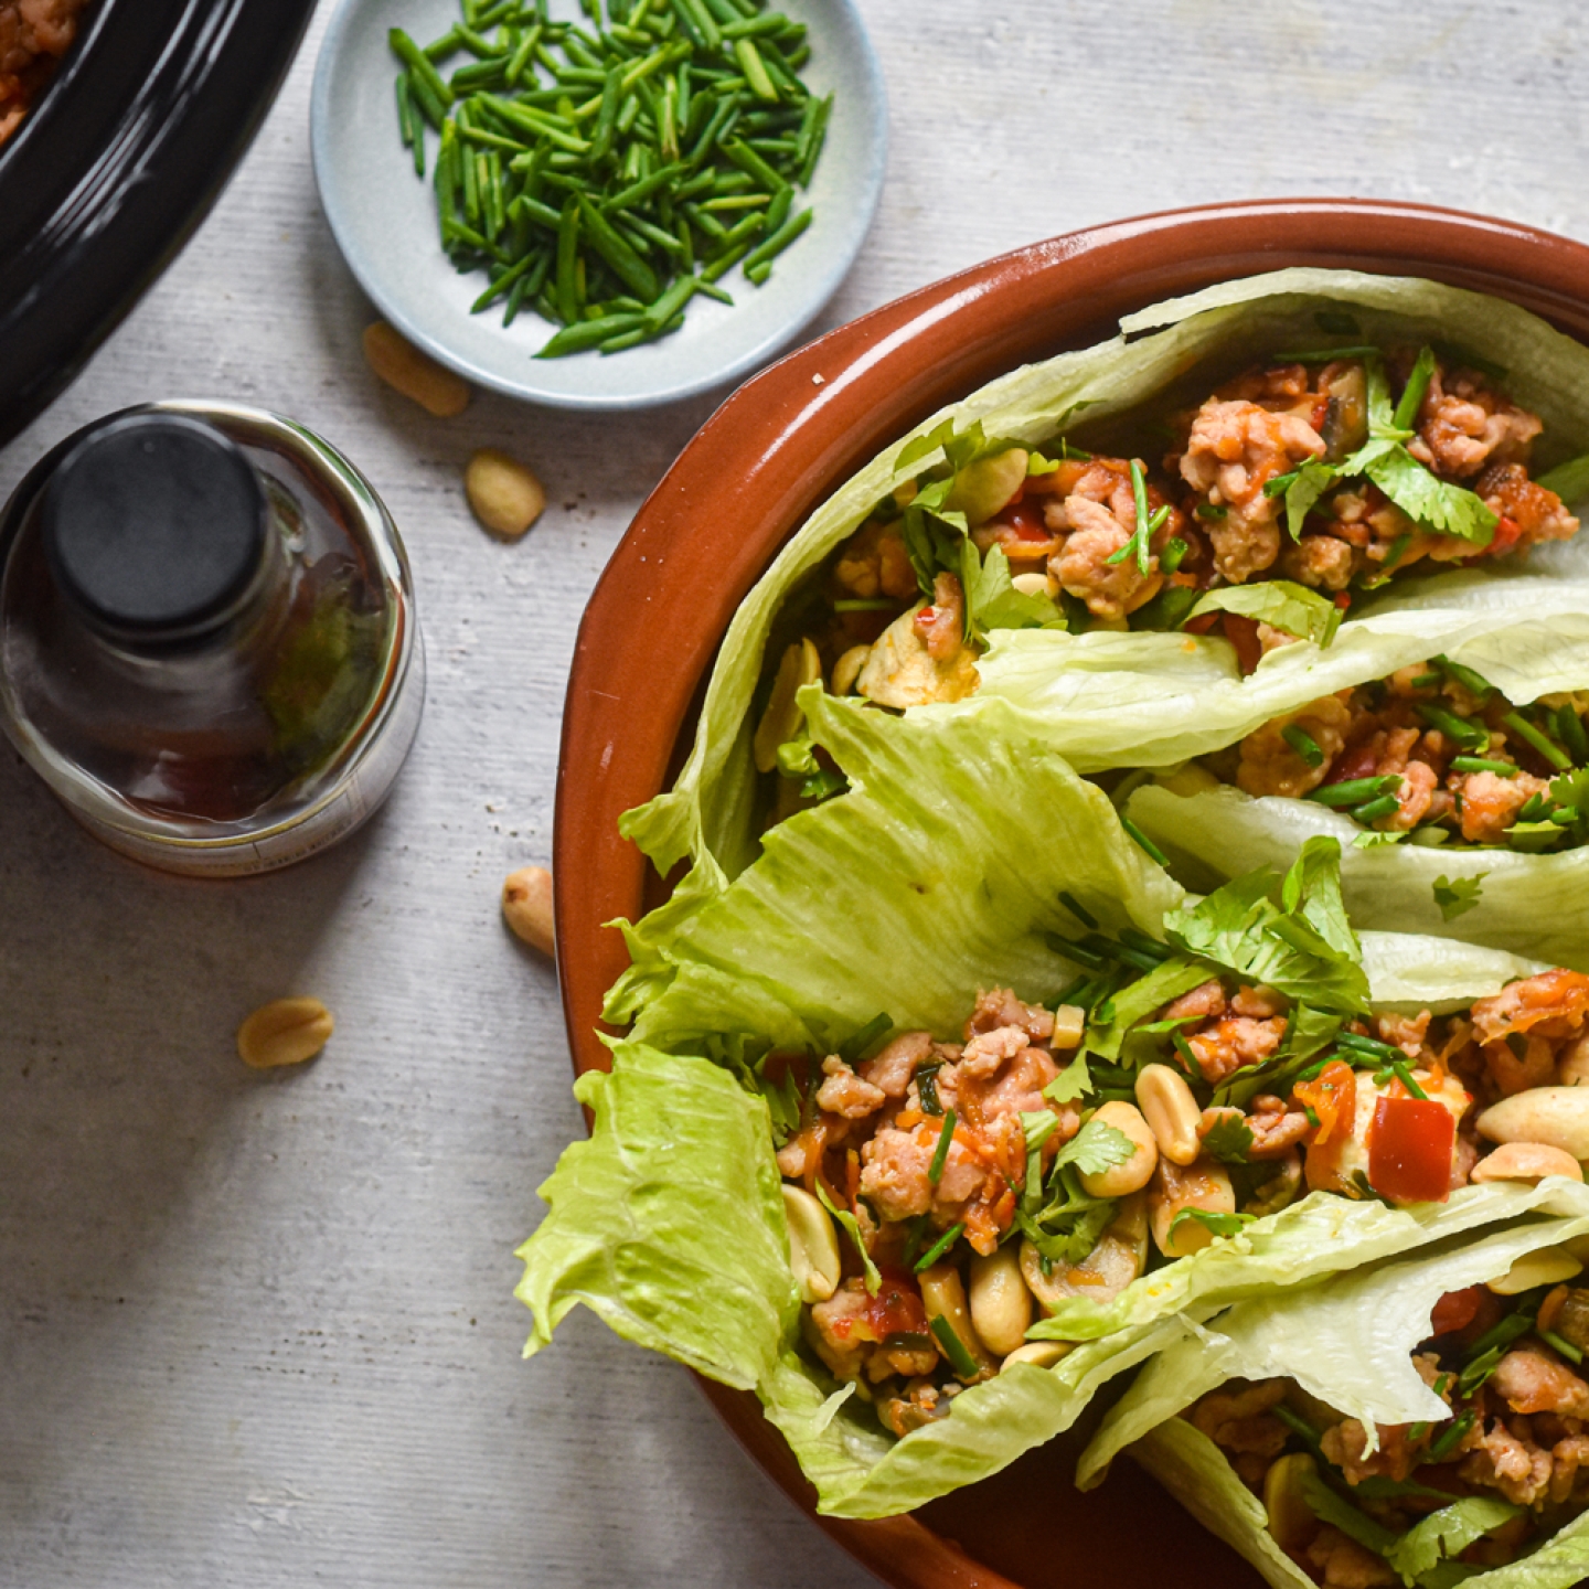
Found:
[(1540, 852), (1589, 839), (1589, 693), (1513, 706), (1436, 656), (1265, 723), (1201, 766), (1414, 844)]

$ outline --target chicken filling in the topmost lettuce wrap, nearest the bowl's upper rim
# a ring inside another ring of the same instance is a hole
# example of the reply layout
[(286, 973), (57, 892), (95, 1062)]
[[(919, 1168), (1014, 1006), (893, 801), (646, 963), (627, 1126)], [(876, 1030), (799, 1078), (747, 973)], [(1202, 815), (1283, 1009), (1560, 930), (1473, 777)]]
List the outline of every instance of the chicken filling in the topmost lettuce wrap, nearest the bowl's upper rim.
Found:
[[(1457, 494), (1470, 535), (1409, 516), (1355, 472), (1374, 380), (1386, 400), (1416, 408), (1395, 432), (1405, 470), (1427, 493)], [(1235, 612), (1190, 617), (1209, 593), (1287, 580), (1347, 612), (1409, 570), (1522, 555), (1578, 531), (1562, 499), (1530, 475), (1540, 418), (1511, 402), (1495, 375), (1432, 348), (1276, 361), (1155, 429), (1163, 437), (1136, 458), (1093, 454), (1061, 437), (1046, 443), (1057, 458), (1012, 448), (953, 475), (936, 507), (966, 520), (984, 563), (995, 547), (1003, 553), (1012, 590), (1028, 601), (1017, 618), (1006, 604), (988, 628), (1044, 621), (1044, 612), (1073, 632), (1217, 628), (1251, 672), (1266, 648), (1295, 636)], [(979, 685), (987, 629), (968, 610), (958, 532), (934, 551), (923, 529), (931, 521), (912, 520), (917, 499), (934, 481), (942, 489), (945, 467), (883, 499), (787, 610), (836, 694), (903, 709), (957, 701)], [(1320, 474), (1308, 478), (1293, 521), (1290, 486), (1309, 469)]]

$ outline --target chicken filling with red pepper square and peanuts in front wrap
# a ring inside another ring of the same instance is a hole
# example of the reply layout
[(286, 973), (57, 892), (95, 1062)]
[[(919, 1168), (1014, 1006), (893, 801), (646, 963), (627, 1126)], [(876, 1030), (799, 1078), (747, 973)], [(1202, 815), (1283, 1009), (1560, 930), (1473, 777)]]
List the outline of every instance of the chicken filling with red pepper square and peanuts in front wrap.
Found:
[[(1068, 1344), (1026, 1330), (1061, 1301), (1108, 1303), (1305, 1192), (1411, 1204), (1470, 1181), (1583, 1179), (1589, 976), (1320, 1030), (1316, 1011), (1211, 974), (1103, 1061), (1100, 1022), (1125, 992), (1093, 984), (1049, 1009), (995, 988), (955, 1042), (906, 1031), (868, 1058), (766, 1061), (806, 1231), (806, 1341), (893, 1433), (1012, 1360), (1057, 1362)], [(1088, 1092), (1068, 1074), (1084, 1042)]]

